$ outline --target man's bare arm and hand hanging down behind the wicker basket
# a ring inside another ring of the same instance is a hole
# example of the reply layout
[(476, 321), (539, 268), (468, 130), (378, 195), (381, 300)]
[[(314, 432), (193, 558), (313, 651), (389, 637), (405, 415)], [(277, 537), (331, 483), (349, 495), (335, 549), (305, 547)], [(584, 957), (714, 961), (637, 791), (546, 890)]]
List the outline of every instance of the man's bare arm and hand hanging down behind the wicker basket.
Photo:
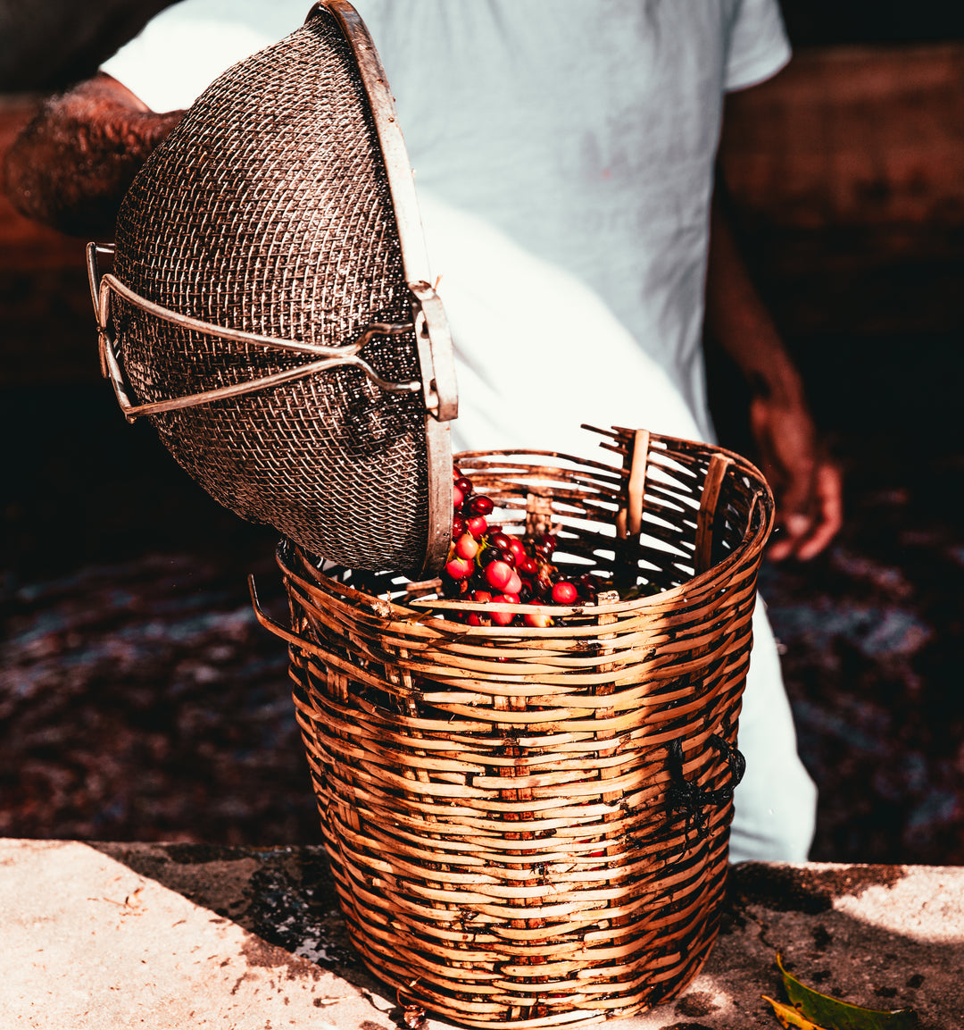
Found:
[(842, 524), (840, 470), (819, 448), (799, 373), (750, 279), (718, 195), (710, 230), (707, 327), (752, 391), (750, 425), (782, 528), (770, 555), (812, 558)]

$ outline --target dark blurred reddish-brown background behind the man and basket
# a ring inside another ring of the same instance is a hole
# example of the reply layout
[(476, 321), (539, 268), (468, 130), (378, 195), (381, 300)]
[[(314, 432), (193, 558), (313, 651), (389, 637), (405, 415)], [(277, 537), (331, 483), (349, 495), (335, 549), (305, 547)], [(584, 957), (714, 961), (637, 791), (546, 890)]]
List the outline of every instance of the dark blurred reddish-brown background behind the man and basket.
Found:
[[(163, 6), (2, 0), (0, 151)], [(761, 577), (821, 789), (812, 857), (964, 864), (964, 6), (784, 11), (795, 57), (733, 98), (721, 162), (847, 475), (837, 542)], [(0, 834), (317, 843), (285, 647), (245, 582), (284, 616), (275, 534), (126, 424), (83, 241), (2, 198), (0, 334)], [(710, 355), (722, 442), (752, 456)]]

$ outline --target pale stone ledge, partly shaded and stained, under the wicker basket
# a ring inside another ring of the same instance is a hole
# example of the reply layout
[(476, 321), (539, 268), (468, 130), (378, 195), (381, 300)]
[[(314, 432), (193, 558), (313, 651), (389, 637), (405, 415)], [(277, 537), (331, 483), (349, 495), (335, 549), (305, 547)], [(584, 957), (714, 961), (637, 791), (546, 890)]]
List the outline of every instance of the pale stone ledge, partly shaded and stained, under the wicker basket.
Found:
[[(4, 1027), (393, 1030), (318, 848), (0, 840)], [(774, 964), (842, 1000), (964, 1017), (964, 868), (735, 866), (717, 945), (675, 1001), (624, 1030), (777, 1028)], [(428, 1030), (447, 1030), (428, 1020)]]

